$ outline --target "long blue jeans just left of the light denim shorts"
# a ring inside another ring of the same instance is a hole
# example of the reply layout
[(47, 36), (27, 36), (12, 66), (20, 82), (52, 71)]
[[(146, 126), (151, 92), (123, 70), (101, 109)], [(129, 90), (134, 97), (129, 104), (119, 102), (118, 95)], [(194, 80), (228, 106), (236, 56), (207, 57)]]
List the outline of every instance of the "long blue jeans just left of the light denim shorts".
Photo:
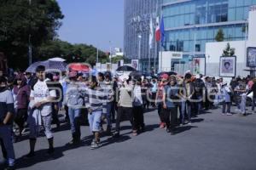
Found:
[(73, 139), (80, 139), (81, 137), (80, 115), (81, 109), (68, 108), (68, 116), (70, 120)]

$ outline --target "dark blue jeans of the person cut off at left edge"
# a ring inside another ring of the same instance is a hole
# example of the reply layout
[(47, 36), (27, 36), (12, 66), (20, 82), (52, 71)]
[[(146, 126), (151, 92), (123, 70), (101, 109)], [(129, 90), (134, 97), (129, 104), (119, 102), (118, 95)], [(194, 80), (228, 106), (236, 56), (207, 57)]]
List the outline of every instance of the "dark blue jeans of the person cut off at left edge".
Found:
[(2, 150), (6, 152), (5, 157), (8, 161), (9, 166), (15, 165), (15, 150), (12, 141), (12, 126), (4, 125), (0, 126), (0, 139), (2, 140)]

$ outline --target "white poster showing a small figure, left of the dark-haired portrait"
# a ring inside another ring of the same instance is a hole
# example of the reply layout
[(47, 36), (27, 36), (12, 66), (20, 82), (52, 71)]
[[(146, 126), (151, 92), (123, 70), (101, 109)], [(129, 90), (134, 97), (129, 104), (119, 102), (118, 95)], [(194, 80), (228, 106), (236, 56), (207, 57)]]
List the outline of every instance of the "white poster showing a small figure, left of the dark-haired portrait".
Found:
[(201, 74), (205, 76), (206, 74), (206, 58), (193, 58), (192, 59), (193, 64), (193, 74), (198, 75)]

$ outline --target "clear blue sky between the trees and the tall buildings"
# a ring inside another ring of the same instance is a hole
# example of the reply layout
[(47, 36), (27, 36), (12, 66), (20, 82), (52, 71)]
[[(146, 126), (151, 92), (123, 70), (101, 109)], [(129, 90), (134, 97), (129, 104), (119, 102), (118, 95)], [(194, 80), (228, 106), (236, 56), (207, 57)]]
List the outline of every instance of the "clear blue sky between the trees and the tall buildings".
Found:
[(59, 38), (103, 51), (123, 48), (124, 0), (57, 0), (62, 14)]

